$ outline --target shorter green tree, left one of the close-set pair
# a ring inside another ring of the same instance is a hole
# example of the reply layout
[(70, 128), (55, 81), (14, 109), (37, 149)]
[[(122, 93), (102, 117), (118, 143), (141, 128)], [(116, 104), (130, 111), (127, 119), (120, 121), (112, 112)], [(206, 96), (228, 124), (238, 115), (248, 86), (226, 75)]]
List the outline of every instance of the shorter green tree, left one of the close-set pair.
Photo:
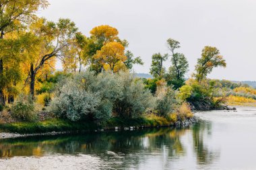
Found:
[(163, 62), (168, 59), (168, 54), (156, 53), (152, 55), (152, 64), (150, 68), (150, 74), (154, 77), (162, 77), (164, 75), (165, 69), (163, 67)]

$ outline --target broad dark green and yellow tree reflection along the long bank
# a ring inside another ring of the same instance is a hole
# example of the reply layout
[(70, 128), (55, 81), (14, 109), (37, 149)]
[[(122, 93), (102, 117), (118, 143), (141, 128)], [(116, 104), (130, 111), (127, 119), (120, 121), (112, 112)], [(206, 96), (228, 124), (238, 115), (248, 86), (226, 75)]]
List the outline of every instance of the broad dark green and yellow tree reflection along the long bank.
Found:
[(160, 155), (168, 167), (171, 157), (185, 154), (181, 136), (188, 129), (145, 129), (63, 136), (34, 136), (0, 140), (0, 157), (84, 153), (99, 157), (113, 169), (136, 169), (149, 155)]

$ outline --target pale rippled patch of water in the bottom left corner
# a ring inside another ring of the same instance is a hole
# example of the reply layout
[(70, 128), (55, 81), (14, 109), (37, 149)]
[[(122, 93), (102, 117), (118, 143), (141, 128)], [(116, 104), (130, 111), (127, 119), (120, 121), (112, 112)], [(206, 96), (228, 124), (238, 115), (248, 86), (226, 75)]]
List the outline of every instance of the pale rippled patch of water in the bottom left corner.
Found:
[(98, 157), (90, 155), (63, 156), (55, 155), (51, 157), (13, 157), (11, 159), (0, 159), (1, 169), (106, 169)]

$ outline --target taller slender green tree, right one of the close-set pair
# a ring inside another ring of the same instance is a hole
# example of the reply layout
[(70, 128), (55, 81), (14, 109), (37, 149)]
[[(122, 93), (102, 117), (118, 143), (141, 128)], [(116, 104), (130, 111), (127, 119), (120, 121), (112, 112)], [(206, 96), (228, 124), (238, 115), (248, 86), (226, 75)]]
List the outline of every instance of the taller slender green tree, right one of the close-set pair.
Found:
[(172, 52), (172, 58), (170, 59), (172, 65), (169, 68), (168, 81), (174, 85), (174, 89), (179, 89), (185, 82), (185, 73), (189, 71), (189, 62), (184, 54), (174, 52), (177, 48), (180, 48), (180, 43), (176, 40), (169, 38), (167, 40), (168, 49)]

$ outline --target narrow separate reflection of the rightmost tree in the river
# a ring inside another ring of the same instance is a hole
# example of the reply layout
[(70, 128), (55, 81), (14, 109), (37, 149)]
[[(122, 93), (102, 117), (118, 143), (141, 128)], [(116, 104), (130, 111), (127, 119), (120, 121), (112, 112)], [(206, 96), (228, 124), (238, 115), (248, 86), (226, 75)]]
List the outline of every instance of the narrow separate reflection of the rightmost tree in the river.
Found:
[[(210, 151), (207, 146), (203, 143), (203, 138), (207, 135), (211, 135), (212, 124), (201, 122), (200, 124), (195, 124), (192, 128), (193, 130), (193, 142), (195, 153), (197, 155), (197, 163), (199, 165), (210, 165), (216, 159), (218, 159), (220, 153), (216, 151)], [(205, 133), (205, 130), (207, 132)]]

